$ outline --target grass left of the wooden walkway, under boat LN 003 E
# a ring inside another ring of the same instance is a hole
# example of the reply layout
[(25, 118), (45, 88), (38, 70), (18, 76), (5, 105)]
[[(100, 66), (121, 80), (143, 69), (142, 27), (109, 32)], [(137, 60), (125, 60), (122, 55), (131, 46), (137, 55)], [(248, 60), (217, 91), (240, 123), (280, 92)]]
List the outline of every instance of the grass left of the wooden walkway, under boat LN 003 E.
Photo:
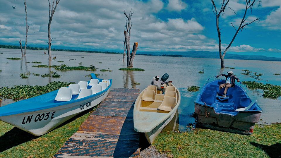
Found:
[(0, 157), (53, 157), (88, 116), (84, 112), (40, 137), (0, 121)]

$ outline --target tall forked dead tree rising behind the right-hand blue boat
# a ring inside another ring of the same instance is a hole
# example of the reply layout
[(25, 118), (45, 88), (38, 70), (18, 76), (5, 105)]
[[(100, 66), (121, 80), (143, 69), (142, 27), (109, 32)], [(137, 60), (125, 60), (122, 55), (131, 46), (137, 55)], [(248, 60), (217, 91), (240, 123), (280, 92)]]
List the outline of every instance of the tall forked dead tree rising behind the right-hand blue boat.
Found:
[[(238, 34), (238, 32), (239, 32), (240, 30), (241, 30), (241, 32), (242, 32), (243, 29), (245, 29), (247, 25), (250, 25), (251, 23), (253, 23), (253, 22), (255, 22), (255, 21), (258, 21), (258, 22), (259, 22), (259, 19), (260, 19), (260, 18), (256, 18), (255, 20), (253, 20), (253, 21), (250, 22), (250, 23), (245, 23), (245, 21), (246, 21), (246, 19), (247, 19), (247, 18), (246, 18), (246, 13), (247, 13), (248, 9), (250, 9), (251, 12), (252, 12), (253, 5), (254, 5), (255, 2), (256, 2), (256, 0), (253, 0), (253, 1), (251, 1), (251, 0), (245, 0), (245, 5), (246, 5), (246, 7), (245, 7), (245, 11), (244, 11), (244, 16), (243, 16), (243, 18), (242, 18), (242, 20), (241, 20), (241, 22), (240, 22), (240, 25), (239, 25), (239, 27), (238, 27), (237, 29), (234, 27), (233, 24), (231, 24), (231, 25), (233, 26), (233, 28), (235, 29), (236, 32), (235, 32), (235, 34), (234, 34), (234, 36), (233, 36), (231, 42), (228, 44), (228, 46), (226, 47), (225, 51), (224, 51), (223, 54), (222, 54), (222, 43), (221, 43), (221, 32), (220, 32), (220, 27), (219, 27), (219, 18), (220, 18), (221, 15), (223, 15), (223, 13), (225, 12), (225, 9), (226, 9), (226, 8), (231, 9), (234, 13), (235, 13), (235, 11), (234, 11), (232, 8), (230, 8), (230, 7), (227, 6), (229, 0), (222, 0), (222, 2), (221, 2), (221, 5), (222, 5), (222, 6), (220, 7), (220, 10), (217, 10), (217, 7), (216, 7), (216, 5), (215, 5), (214, 0), (211, 0), (211, 1), (212, 1), (213, 13), (214, 13), (215, 16), (216, 16), (217, 34), (218, 34), (218, 38), (219, 38), (220, 65), (221, 65), (221, 68), (224, 68), (224, 67), (225, 67), (225, 63), (224, 63), (225, 54), (226, 54), (227, 50), (229, 49), (229, 47), (231, 46), (231, 44), (233, 43), (233, 41), (234, 41), (236, 35)], [(258, 1), (259, 1), (259, 2), (258, 2), (258, 6), (260, 6), (261, 0), (258, 0)], [(236, 14), (236, 13), (235, 13), (235, 14)]]

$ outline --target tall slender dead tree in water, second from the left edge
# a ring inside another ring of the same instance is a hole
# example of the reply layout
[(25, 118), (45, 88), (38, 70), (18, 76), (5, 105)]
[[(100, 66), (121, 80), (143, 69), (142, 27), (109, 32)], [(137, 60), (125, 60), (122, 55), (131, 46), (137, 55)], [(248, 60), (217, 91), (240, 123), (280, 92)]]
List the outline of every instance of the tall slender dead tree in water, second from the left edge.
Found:
[(51, 45), (52, 45), (52, 40), (54, 40), (54, 38), (51, 38), (51, 22), (54, 16), (54, 13), (56, 11), (56, 7), (58, 6), (60, 0), (56, 0), (56, 5), (54, 6), (55, 0), (53, 0), (53, 5), (51, 8), (51, 4), (50, 4), (50, 0), (48, 0), (49, 2), (49, 23), (48, 23), (48, 38), (49, 38), (49, 48), (48, 48), (48, 54), (49, 54), (49, 60), (52, 59), (52, 53), (51, 53)]

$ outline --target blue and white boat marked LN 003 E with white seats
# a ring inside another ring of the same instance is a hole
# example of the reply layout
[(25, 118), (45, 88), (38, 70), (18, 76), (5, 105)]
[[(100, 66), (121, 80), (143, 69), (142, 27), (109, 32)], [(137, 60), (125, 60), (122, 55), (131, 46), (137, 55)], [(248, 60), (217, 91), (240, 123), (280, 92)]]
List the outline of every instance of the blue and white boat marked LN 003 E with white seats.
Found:
[(80, 81), (59, 90), (0, 107), (0, 120), (33, 135), (43, 135), (77, 114), (104, 100), (112, 80), (91, 74), (90, 81)]

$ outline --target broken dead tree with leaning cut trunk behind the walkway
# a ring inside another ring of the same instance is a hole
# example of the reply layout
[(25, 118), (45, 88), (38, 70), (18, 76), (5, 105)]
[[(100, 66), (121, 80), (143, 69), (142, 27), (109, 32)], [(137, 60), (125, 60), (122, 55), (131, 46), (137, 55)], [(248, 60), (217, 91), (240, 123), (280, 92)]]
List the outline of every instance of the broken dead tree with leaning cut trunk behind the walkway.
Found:
[[(131, 23), (131, 18), (134, 12), (132, 10), (129, 12), (129, 15), (124, 11), (124, 15), (128, 19), (128, 24), (126, 20), (126, 30), (124, 30), (124, 36), (125, 36), (125, 42), (124, 44), (126, 45), (126, 50), (127, 50), (127, 66), (133, 66), (133, 60), (135, 59), (136, 56), (136, 51), (138, 50), (138, 42), (135, 42), (133, 45), (132, 53), (130, 52), (130, 39), (131, 39), (131, 28), (132, 28), (132, 23)], [(124, 46), (124, 52), (125, 51), (125, 46)], [(123, 61), (124, 61), (124, 55), (123, 53)]]

